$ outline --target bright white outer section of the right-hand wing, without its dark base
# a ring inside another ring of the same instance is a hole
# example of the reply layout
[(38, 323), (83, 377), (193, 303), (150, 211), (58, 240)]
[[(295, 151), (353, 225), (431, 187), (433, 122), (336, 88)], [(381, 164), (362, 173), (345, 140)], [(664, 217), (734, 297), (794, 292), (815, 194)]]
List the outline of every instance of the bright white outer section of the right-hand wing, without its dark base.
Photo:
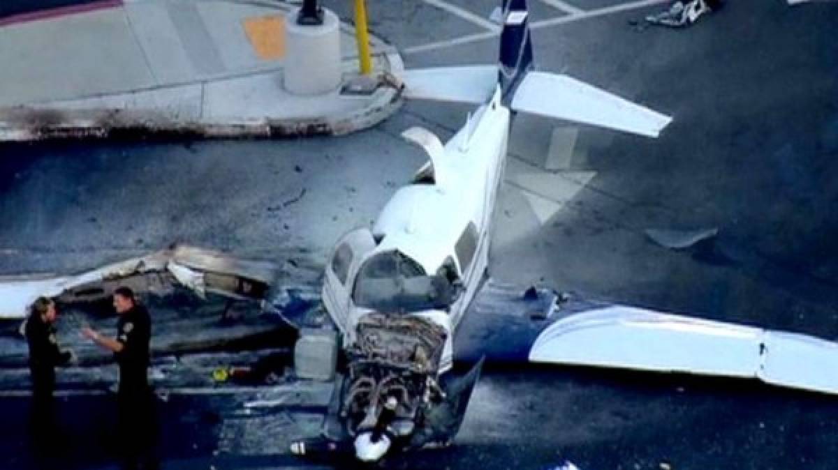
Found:
[(834, 342), (622, 305), (557, 320), (535, 340), (530, 360), (758, 378), (838, 393)]

